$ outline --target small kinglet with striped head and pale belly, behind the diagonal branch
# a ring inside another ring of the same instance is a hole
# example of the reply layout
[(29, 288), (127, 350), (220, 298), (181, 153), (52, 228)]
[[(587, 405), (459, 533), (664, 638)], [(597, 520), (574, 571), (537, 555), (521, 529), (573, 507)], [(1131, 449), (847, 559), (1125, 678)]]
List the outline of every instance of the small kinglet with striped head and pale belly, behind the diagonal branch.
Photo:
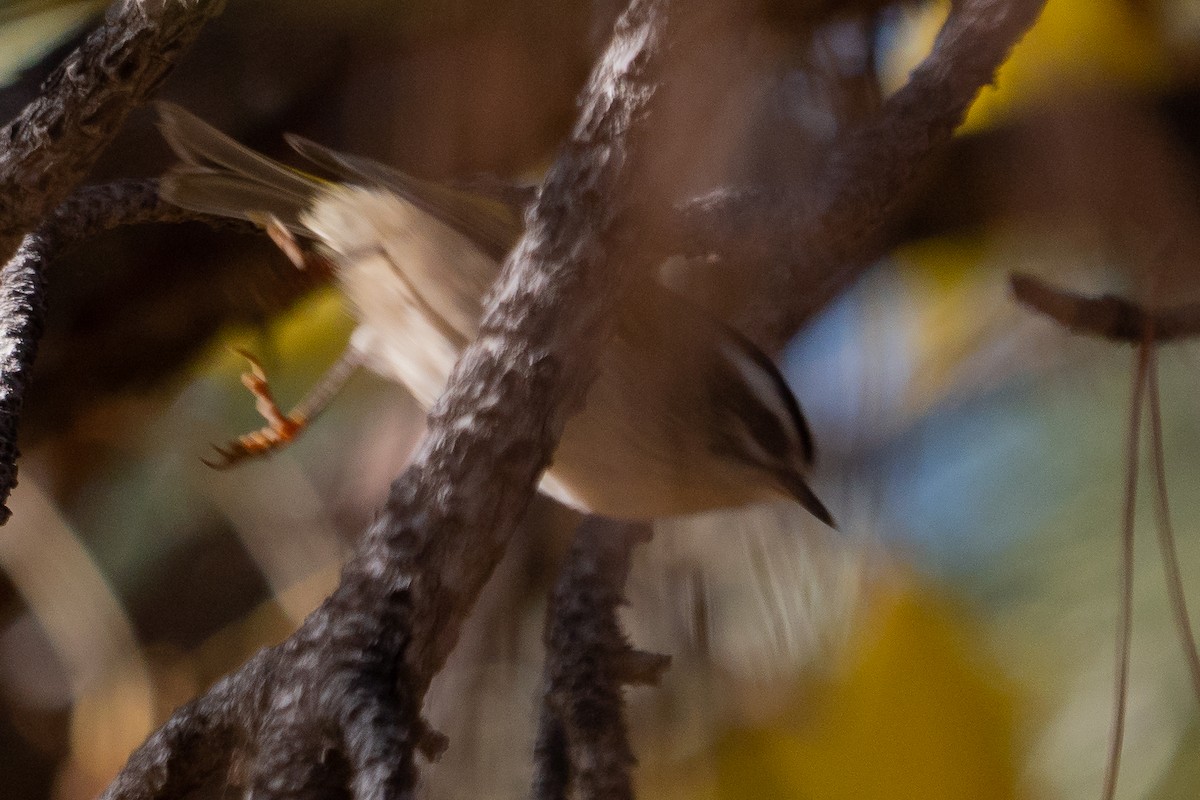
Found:
[[(428, 409), (521, 236), (521, 193), (431, 184), (289, 137), (338, 178), (330, 182), (178, 107), (161, 104), (160, 114), (182, 160), (163, 179), (163, 198), (313, 240), (358, 318), (352, 351)], [(770, 360), (667, 289), (653, 291), (653, 313), (623, 315), (541, 491), (625, 519), (791, 497), (832, 525), (804, 480), (812, 439)]]

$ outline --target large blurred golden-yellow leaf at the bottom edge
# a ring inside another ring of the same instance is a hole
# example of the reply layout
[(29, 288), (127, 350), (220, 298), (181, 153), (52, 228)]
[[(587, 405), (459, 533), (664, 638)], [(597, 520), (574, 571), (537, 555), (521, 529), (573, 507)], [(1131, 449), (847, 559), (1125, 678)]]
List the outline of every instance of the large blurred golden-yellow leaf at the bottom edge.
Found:
[(730, 733), (718, 796), (1016, 796), (1010, 693), (946, 601), (906, 583), (875, 599), (846, 669), (773, 722)]

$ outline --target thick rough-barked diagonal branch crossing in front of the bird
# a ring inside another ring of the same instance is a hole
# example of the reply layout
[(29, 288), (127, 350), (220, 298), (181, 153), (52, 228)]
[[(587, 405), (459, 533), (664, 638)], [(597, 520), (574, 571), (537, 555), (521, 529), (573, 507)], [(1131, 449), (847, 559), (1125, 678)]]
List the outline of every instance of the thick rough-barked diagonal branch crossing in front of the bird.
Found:
[(151, 736), (106, 800), (173, 796), (181, 776), (194, 784), (196, 758), (218, 768), (234, 759), (226, 735), (212, 745), (179, 735), (193, 726), (239, 732), (256, 798), (325, 796), (330, 776), (360, 799), (412, 792), (414, 750), (436, 756), (442, 745), (419, 715), (425, 691), (582, 402), (637, 273), (618, 221), (638, 174), (665, 7), (634, 0), (618, 23), (479, 338), (337, 590), (286, 643)]

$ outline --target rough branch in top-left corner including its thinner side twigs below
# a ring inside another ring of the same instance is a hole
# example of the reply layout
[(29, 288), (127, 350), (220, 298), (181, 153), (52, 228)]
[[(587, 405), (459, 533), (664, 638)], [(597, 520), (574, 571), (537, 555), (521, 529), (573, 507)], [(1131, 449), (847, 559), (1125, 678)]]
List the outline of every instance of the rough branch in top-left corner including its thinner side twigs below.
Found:
[[(124, 215), (167, 213), (149, 194), (82, 193), (78, 185), (128, 112), (162, 83), (224, 0), (121, 0), (46, 79), (41, 95), (0, 130), (0, 524), (17, 482), (17, 417), (44, 317), (43, 267), (67, 242), (121, 224)], [(130, 190), (126, 185), (125, 190)], [(120, 192), (121, 190), (118, 190)], [(102, 192), (102, 191), (101, 191)], [(115, 218), (107, 218), (107, 207)]]

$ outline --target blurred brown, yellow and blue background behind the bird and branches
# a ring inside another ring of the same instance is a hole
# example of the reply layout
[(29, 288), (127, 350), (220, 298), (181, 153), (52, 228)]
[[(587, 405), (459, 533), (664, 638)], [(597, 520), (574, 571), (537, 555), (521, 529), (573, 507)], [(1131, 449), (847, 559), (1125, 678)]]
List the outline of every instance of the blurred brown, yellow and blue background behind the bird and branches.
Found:
[[(535, 181), (620, 5), (230, 2), (163, 96), (277, 157), (294, 131), (425, 178)], [(742, 5), (685, 59), (694, 82), (662, 124), (680, 197), (803, 175), (902, 84), (948, 6)], [(0, 116), (102, 7), (0, 5)], [(784, 504), (665, 522), (637, 552), (626, 626), (673, 657), (661, 686), (629, 692), (641, 796), (1098, 796), (1132, 354), (1018, 308), (1007, 276), (1195, 301), (1198, 158), (1200, 2), (1049, 0), (908, 198), (892, 254), (782, 354), (842, 533)], [(94, 180), (169, 162), (144, 109)], [(422, 426), (402, 389), (360, 375), (292, 449), (200, 464), (259, 425), (230, 347), (286, 405), (349, 335), (336, 294), (263, 236), (127, 229), (50, 283), (0, 529), (14, 800), (94, 796), (173, 708), (286, 637)], [(1163, 347), (1160, 366), (1200, 602), (1200, 350)], [(1120, 796), (1190, 798), (1200, 717), (1148, 495), (1140, 509)], [(425, 796), (527, 795), (545, 597), (576, 522), (535, 503), (436, 681), (451, 745)]]

